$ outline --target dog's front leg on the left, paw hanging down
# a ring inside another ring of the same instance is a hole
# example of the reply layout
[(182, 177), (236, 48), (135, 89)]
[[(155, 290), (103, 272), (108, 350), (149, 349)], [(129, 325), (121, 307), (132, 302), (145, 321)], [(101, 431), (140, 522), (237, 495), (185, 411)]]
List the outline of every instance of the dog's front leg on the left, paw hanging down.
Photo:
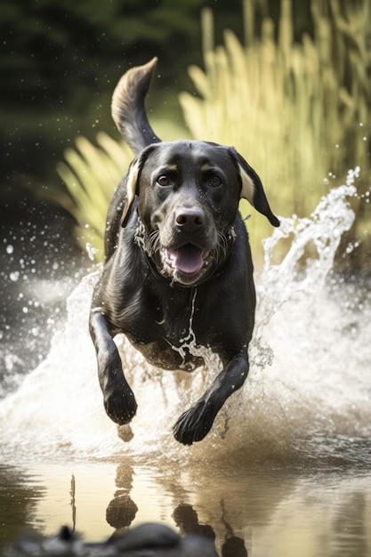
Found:
[(109, 335), (107, 321), (100, 311), (92, 311), (89, 325), (97, 352), (104, 408), (113, 422), (127, 424), (135, 415), (137, 403), (132, 389), (125, 380), (117, 346)]

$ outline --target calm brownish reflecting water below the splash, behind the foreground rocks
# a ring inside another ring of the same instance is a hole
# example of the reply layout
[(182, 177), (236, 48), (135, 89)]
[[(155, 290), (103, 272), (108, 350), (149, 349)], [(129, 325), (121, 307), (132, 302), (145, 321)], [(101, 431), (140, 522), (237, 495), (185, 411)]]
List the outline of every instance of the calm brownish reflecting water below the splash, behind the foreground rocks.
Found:
[[(320, 469), (293, 469), (251, 466), (236, 457), (192, 466), (156, 460), (28, 464), (26, 474), (16, 469), (11, 478), (6, 467), (2, 528), (15, 522), (54, 534), (69, 524), (94, 541), (130, 522), (161, 521), (184, 533), (212, 529), (221, 555), (243, 555), (242, 547), (259, 556), (370, 554), (371, 480), (365, 469), (331, 461)], [(232, 549), (237, 546), (241, 553)]]

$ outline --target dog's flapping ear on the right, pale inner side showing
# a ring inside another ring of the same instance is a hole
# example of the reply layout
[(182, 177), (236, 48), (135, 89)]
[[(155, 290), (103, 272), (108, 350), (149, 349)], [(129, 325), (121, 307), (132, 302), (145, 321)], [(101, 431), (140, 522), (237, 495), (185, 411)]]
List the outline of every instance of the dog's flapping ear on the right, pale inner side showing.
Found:
[(277, 216), (271, 212), (270, 204), (265, 196), (258, 174), (255, 173), (254, 168), (246, 162), (244, 157), (241, 157), (237, 151), (234, 152), (237, 157), (238, 170), (242, 182), (241, 198), (247, 199), (259, 213), (264, 214), (270, 224), (279, 226)]

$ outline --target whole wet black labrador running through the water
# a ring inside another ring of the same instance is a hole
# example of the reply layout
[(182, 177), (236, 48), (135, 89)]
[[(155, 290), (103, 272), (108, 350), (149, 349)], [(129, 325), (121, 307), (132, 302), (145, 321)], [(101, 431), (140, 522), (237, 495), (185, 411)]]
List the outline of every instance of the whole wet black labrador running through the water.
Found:
[(126, 72), (112, 98), (112, 117), (136, 157), (109, 206), (90, 332), (104, 406), (117, 424), (130, 422), (137, 404), (115, 335), (124, 333), (165, 369), (199, 367), (199, 347), (219, 356), (222, 371), (173, 426), (175, 439), (190, 445), (210, 431), (249, 369), (255, 291), (239, 199), (279, 222), (259, 176), (235, 149), (161, 141), (153, 132), (144, 99), (156, 62)]

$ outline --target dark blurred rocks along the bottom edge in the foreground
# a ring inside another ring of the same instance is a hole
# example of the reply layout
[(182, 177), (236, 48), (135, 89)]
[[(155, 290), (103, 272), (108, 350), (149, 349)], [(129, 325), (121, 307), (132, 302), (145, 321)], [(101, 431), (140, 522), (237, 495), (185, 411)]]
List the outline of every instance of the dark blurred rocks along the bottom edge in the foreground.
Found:
[(147, 522), (101, 544), (84, 543), (63, 526), (55, 537), (28, 534), (9, 545), (3, 557), (218, 557), (213, 540)]

